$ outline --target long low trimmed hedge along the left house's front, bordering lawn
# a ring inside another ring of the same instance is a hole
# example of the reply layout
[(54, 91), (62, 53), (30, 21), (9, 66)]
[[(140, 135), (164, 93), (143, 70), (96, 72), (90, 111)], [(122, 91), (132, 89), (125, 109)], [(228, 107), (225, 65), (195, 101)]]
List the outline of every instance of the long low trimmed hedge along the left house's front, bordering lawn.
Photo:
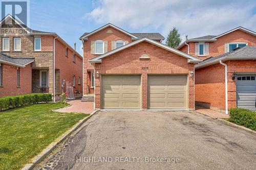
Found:
[(17, 96), (6, 96), (0, 98), (0, 111), (19, 106), (26, 106), (37, 103), (47, 103), (50, 101), (52, 101), (52, 94), (50, 93), (34, 93)]

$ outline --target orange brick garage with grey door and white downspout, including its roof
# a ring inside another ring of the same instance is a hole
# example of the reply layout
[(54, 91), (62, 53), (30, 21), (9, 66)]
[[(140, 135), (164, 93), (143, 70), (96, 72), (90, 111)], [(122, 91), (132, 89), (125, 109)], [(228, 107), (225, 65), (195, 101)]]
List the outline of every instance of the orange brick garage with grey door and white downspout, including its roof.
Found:
[(208, 58), (195, 65), (196, 104), (228, 114), (256, 110), (256, 46)]

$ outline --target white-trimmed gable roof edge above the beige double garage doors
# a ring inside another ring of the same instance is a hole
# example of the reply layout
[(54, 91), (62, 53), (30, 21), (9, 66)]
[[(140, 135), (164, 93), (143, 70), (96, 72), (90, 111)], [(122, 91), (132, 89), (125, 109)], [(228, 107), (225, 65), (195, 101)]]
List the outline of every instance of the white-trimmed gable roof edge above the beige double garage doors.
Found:
[(167, 50), (167, 51), (169, 51), (169, 52), (173, 52), (173, 53), (175, 53), (175, 54), (177, 54), (177, 55), (180, 55), (180, 56), (182, 56), (182, 57), (185, 57), (185, 58), (188, 59), (188, 62), (200, 62), (200, 61), (202, 61), (202, 60), (200, 60), (200, 59), (198, 59), (198, 58), (196, 58), (196, 57), (190, 56), (190, 55), (188, 55), (188, 54), (186, 54), (186, 53), (183, 53), (183, 52), (181, 52), (181, 51), (178, 51), (178, 50), (176, 50), (176, 49), (174, 49), (174, 48), (172, 48), (172, 47), (169, 47), (169, 46), (167, 46), (167, 45), (164, 45), (164, 44), (162, 44), (162, 43), (160, 43), (160, 42), (157, 42), (157, 41), (152, 40), (152, 39), (147, 38), (147, 37), (143, 37), (143, 38), (141, 38), (141, 39), (138, 39), (138, 40), (136, 40), (136, 41), (133, 41), (133, 42), (131, 42), (131, 43), (128, 43), (128, 44), (126, 44), (126, 45), (123, 45), (123, 46), (121, 46), (121, 47), (119, 47), (119, 48), (116, 48), (115, 50), (112, 50), (112, 51), (110, 51), (110, 52), (108, 52), (108, 53), (105, 53), (105, 54), (102, 54), (102, 55), (97, 56), (97, 57), (95, 57), (95, 58), (92, 58), (92, 59), (89, 60), (89, 62), (91, 62), (91, 63), (101, 63), (101, 59), (102, 59), (102, 58), (108, 57), (108, 56), (110, 56), (110, 55), (112, 55), (112, 54), (115, 54), (115, 53), (117, 53), (117, 52), (120, 52), (120, 51), (122, 51), (122, 50), (124, 50), (124, 49), (126, 49), (126, 48), (129, 48), (129, 47), (131, 47), (131, 46), (133, 46), (133, 45), (136, 45), (136, 44), (138, 44), (138, 43), (140, 43), (140, 42), (143, 42), (143, 41), (146, 41), (146, 42), (148, 42), (148, 43), (154, 44), (154, 45), (159, 46), (159, 47), (161, 47), (161, 48), (163, 48), (163, 49), (165, 49), (165, 50)]

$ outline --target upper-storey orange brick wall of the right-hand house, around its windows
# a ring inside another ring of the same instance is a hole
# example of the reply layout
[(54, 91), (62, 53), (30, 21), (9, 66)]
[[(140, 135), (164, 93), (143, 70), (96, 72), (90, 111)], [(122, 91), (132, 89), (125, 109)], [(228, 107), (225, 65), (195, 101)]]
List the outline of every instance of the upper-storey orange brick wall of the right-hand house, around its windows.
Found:
[[(217, 38), (215, 42), (209, 42), (209, 56), (199, 56), (199, 58), (205, 60), (224, 54), (226, 42), (247, 42), (248, 45), (256, 45), (256, 37), (240, 30), (233, 31)], [(189, 55), (195, 56), (195, 46), (196, 42), (189, 42)], [(180, 51), (187, 53), (187, 45), (184, 45)]]

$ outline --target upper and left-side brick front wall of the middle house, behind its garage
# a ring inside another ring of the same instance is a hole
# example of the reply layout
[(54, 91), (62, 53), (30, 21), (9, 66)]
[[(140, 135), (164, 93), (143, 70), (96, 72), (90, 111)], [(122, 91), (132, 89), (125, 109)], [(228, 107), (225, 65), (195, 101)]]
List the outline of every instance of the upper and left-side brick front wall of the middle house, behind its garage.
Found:
[[(111, 33), (107, 33), (111, 32)], [(91, 41), (96, 40), (102, 40), (102, 41), (108, 41), (108, 52), (112, 50), (112, 44), (111, 41), (116, 40), (123, 40), (123, 41), (129, 41), (132, 42), (132, 38), (129, 35), (126, 35), (112, 27), (105, 28), (91, 36), (88, 37), (87, 41), (84, 41), (83, 43), (83, 57), (84, 57), (84, 86), (83, 86), (83, 92), (84, 94), (87, 94), (87, 86), (89, 85), (89, 93), (94, 93), (94, 89), (91, 88), (91, 77), (90, 74), (88, 74), (88, 71), (93, 70), (93, 66), (88, 62), (89, 59), (92, 59), (94, 57), (97, 57), (99, 55), (91, 54)]]

